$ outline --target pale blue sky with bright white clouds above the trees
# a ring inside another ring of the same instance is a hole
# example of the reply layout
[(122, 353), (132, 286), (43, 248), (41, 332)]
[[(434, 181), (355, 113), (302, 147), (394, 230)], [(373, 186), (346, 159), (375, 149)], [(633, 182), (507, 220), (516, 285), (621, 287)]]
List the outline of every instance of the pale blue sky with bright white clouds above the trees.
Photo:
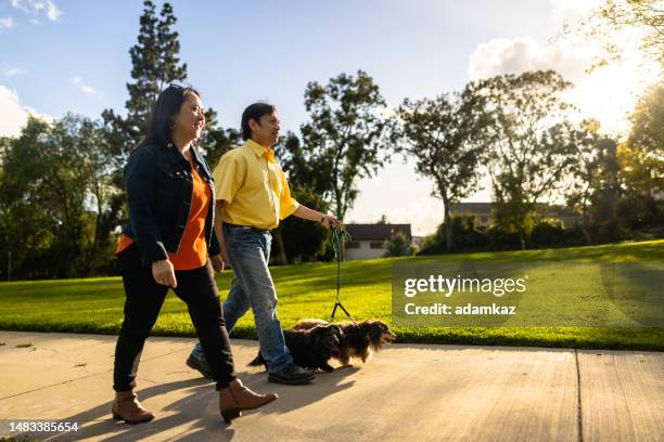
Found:
[[(570, 100), (610, 133), (628, 129), (627, 113), (647, 86), (638, 57), (585, 70), (598, 49), (554, 39), (563, 22), (596, 0), (174, 0), (188, 83), (224, 127), (240, 125), (258, 100), (277, 105), (283, 131), (307, 121), (304, 91), (341, 73), (367, 72), (388, 108), (405, 98), (434, 98), (468, 81), (554, 68), (576, 86)], [(161, 9), (161, 2), (157, 10)], [(0, 0), (0, 135), (16, 135), (28, 113), (98, 118), (124, 113), (129, 48), (137, 42), (141, 1)], [(620, 83), (622, 87), (616, 88)], [(490, 199), (483, 186), (465, 200)], [(399, 156), (359, 182), (345, 222), (411, 223), (430, 234), (443, 219), (433, 184)]]

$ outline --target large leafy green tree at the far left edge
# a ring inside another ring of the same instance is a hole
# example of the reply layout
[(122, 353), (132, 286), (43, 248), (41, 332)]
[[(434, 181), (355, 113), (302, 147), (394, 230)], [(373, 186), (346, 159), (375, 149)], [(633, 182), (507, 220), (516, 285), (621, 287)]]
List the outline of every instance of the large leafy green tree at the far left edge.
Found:
[(67, 115), (30, 118), (9, 140), (2, 164), (0, 225), (20, 277), (87, 276), (112, 260), (101, 225), (110, 174), (99, 122)]

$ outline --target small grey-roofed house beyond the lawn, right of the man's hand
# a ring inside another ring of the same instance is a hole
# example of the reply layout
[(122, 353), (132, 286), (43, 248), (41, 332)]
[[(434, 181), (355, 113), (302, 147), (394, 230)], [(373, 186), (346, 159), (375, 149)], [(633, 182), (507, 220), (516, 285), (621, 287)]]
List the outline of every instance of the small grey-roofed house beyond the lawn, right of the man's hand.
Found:
[(410, 224), (345, 224), (353, 240), (346, 243), (346, 260), (381, 258), (387, 251), (387, 239), (401, 232), (412, 242)]

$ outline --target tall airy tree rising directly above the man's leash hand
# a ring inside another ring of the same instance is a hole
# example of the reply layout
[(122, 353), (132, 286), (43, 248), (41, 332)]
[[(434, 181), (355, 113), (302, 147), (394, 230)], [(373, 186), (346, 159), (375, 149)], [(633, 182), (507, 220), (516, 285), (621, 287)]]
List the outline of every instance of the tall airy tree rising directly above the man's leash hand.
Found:
[(373, 177), (385, 160), (385, 120), (379, 115), (385, 101), (373, 79), (358, 70), (356, 77), (331, 78), (327, 86), (309, 82), (305, 107), (310, 121), (301, 128), (304, 158), (317, 174), (331, 178), (323, 196), (341, 220), (359, 194), (357, 181)]

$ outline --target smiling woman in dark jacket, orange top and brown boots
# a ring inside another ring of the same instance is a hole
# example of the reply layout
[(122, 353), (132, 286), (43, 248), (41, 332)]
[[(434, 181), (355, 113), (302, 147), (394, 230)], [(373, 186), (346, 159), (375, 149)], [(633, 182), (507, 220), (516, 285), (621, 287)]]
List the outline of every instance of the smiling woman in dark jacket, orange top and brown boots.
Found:
[[(129, 223), (116, 250), (125, 286), (125, 320), (115, 349), (113, 417), (127, 424), (154, 415), (133, 389), (141, 352), (169, 287), (189, 309), (219, 391), (227, 422), (277, 399), (235, 377), (213, 269), (224, 268), (214, 234), (212, 174), (194, 142), (205, 127), (199, 93), (169, 86), (158, 96), (145, 136), (125, 167)], [(209, 258), (208, 258), (209, 257)]]

